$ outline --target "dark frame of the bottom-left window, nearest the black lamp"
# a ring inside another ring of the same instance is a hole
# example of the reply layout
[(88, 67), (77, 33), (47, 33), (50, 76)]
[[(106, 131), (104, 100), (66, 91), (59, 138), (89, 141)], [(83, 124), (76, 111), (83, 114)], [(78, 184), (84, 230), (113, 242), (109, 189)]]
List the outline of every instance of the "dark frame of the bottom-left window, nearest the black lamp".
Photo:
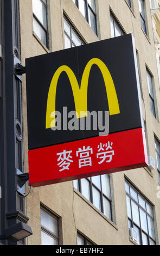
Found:
[(52, 218), (55, 218), (57, 220), (57, 230), (58, 230), (58, 235), (59, 236), (56, 236), (51, 230), (47, 229), (42, 224), (41, 224), (41, 230), (44, 233), (46, 233), (47, 235), (52, 236), (55, 240), (57, 240), (58, 245), (59, 245), (59, 242), (60, 242), (59, 219), (60, 218), (42, 204), (40, 205), (40, 211), (41, 210), (45, 211), (48, 215), (52, 216)]

